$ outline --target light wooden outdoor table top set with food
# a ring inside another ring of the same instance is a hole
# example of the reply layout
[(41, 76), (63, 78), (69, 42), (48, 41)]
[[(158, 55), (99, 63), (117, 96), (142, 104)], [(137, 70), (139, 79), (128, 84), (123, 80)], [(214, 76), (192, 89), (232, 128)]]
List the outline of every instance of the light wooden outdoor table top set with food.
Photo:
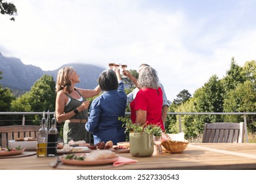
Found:
[(164, 153), (149, 158), (135, 158), (129, 153), (118, 154), (126, 158), (137, 159), (131, 163), (114, 167), (109, 165), (74, 166), (59, 163), (53, 168), (49, 163), (56, 158), (37, 158), (35, 155), (23, 158), (0, 159), (0, 169), (5, 170), (42, 170), (42, 169), (256, 169), (256, 143), (242, 144), (188, 144), (181, 154)]

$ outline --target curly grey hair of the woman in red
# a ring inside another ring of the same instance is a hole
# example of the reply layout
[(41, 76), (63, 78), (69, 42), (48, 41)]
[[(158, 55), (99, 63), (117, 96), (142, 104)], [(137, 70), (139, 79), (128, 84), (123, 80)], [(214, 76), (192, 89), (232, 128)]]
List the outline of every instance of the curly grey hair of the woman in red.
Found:
[(138, 84), (142, 88), (159, 88), (158, 73), (152, 67), (146, 66), (140, 71)]

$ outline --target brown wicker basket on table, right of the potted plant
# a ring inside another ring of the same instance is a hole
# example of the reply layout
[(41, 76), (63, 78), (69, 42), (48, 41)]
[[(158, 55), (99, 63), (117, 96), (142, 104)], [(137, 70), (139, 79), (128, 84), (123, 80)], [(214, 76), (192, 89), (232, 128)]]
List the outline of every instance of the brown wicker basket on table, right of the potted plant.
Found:
[(163, 142), (161, 142), (163, 151), (171, 152), (171, 153), (181, 153), (186, 149), (187, 145), (188, 145), (188, 141), (186, 141), (186, 140), (184, 140), (184, 142), (181, 142), (181, 141), (163, 141)]

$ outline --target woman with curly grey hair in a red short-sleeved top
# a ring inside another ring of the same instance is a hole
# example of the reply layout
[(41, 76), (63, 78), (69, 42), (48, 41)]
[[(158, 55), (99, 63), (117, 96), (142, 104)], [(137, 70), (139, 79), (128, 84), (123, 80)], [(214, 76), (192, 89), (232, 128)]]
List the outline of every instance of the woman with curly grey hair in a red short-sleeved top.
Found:
[(140, 90), (131, 102), (131, 120), (140, 125), (159, 125), (164, 131), (161, 109), (163, 92), (158, 85), (158, 75), (152, 67), (144, 67), (139, 73)]

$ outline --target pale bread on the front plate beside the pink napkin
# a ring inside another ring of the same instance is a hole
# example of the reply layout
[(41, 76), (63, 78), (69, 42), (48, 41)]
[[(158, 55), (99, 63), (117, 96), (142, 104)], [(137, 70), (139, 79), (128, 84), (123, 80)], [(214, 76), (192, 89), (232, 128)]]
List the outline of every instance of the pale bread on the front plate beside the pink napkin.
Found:
[(111, 150), (95, 150), (87, 154), (85, 161), (95, 161), (98, 159), (116, 158), (116, 153)]

